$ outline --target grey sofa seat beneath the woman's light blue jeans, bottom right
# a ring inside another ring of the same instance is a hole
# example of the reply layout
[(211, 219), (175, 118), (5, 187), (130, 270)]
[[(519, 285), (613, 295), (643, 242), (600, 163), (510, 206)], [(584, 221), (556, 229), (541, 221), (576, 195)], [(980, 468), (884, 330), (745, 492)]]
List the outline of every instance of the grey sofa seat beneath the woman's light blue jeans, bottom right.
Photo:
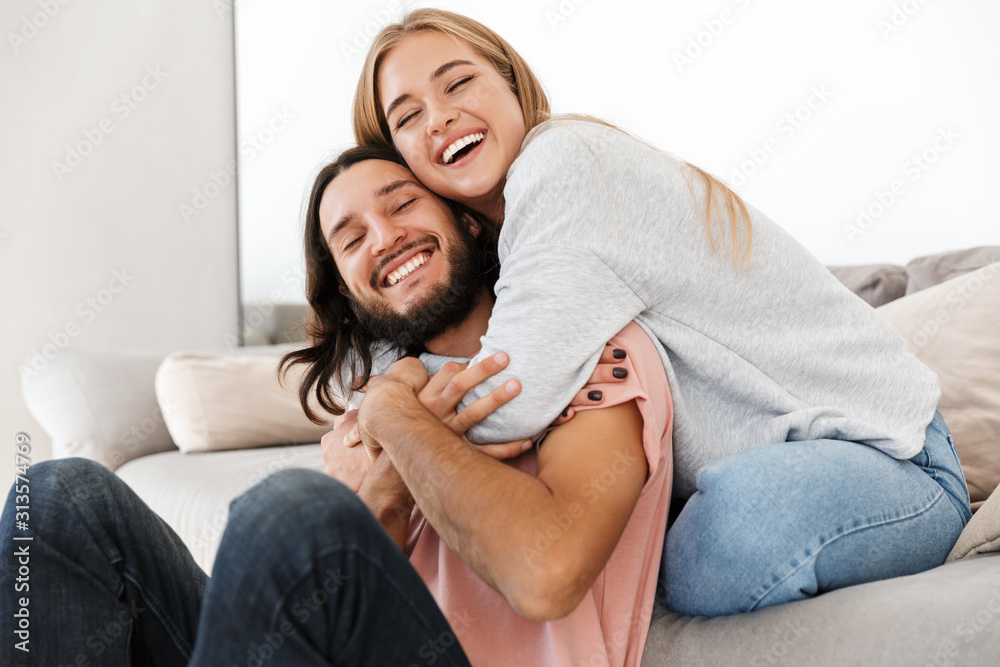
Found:
[(642, 664), (997, 665), (1000, 554), (733, 616), (657, 606)]

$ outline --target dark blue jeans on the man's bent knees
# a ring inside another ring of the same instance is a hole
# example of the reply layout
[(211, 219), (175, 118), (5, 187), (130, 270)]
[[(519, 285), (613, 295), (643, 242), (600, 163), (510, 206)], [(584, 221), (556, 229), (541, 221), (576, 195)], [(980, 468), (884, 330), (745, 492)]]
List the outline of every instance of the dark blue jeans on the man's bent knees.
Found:
[[(33, 539), (13, 540), (13, 489), (0, 521), (0, 664), (469, 664), (405, 555), (330, 477), (282, 470), (236, 498), (211, 579), (103, 466), (45, 461), (28, 478)], [(15, 594), (24, 545), (30, 589)], [(13, 648), (23, 595), (30, 653)]]

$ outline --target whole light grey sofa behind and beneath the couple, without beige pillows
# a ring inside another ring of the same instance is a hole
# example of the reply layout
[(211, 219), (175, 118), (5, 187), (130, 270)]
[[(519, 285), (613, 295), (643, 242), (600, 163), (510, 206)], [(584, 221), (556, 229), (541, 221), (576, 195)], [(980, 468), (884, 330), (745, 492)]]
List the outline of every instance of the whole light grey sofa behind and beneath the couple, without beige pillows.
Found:
[[(881, 305), (906, 295), (908, 284), (923, 289), (995, 262), (998, 251), (921, 258), (907, 267), (831, 270), (869, 303)], [(282, 316), (289, 320), (287, 312)], [(87, 456), (117, 470), (210, 571), (229, 502), (280, 468), (322, 470), (320, 447), (181, 453), (154, 394), (163, 357), (66, 350), (24, 386), (24, 395), (57, 456)], [(1000, 439), (996, 444), (1000, 457)], [(981, 519), (977, 530), (991, 537), (1000, 534), (998, 493), (974, 517)], [(919, 575), (721, 618), (684, 617), (658, 607), (642, 664), (1000, 665), (1000, 555), (971, 555)]]

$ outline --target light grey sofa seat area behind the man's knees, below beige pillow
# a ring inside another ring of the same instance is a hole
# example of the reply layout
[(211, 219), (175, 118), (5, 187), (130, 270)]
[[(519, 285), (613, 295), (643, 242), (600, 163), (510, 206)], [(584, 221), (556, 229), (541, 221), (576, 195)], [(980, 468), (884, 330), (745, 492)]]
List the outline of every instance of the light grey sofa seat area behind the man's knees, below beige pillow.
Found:
[(118, 476), (163, 517), (195, 561), (211, 572), (229, 503), (282, 468), (323, 471), (318, 444), (262, 447), (236, 452), (144, 456), (118, 470)]

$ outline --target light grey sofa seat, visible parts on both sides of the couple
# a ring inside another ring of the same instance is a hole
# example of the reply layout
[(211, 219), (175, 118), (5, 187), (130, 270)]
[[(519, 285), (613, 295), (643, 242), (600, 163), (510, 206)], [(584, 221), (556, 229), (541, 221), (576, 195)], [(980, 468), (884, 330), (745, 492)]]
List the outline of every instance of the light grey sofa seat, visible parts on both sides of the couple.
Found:
[[(322, 471), (320, 446), (163, 452), (118, 474), (211, 572), (229, 503), (289, 467)], [(1000, 665), (998, 636), (1000, 552), (734, 616), (682, 616), (656, 605), (642, 665)]]

